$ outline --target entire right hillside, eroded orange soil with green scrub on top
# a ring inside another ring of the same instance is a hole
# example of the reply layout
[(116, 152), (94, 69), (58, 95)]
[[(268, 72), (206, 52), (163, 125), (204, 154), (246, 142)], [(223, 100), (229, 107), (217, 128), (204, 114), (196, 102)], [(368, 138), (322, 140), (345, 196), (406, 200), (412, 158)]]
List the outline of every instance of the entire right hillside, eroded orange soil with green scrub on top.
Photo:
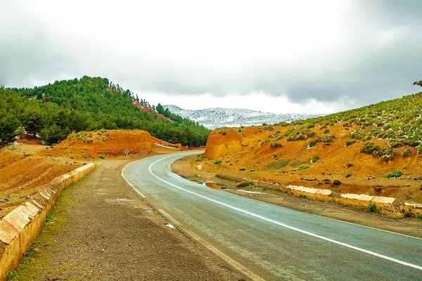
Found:
[(196, 164), (274, 183), (422, 202), (421, 110), (418, 93), (295, 124), (217, 129)]

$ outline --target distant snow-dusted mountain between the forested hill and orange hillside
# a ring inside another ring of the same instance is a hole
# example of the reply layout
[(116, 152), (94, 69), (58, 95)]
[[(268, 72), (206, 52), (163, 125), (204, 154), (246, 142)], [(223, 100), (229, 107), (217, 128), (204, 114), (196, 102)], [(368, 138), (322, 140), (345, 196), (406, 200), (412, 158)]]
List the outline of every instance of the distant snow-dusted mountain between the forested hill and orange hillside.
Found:
[(279, 122), (292, 122), (298, 119), (307, 119), (321, 115), (307, 114), (281, 114), (276, 115), (269, 112), (244, 110), (238, 108), (209, 108), (207, 110), (184, 110), (176, 105), (163, 105), (170, 112), (181, 117), (191, 119), (208, 129), (221, 127), (258, 126), (262, 123), (276, 124)]

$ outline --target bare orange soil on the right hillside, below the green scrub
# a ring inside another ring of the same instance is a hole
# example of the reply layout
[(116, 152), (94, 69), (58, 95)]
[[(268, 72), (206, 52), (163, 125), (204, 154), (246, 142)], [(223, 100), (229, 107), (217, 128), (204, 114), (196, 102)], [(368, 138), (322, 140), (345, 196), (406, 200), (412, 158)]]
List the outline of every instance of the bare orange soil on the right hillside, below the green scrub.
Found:
[[(281, 138), (279, 143), (283, 147), (271, 148), (270, 144), (275, 140), (271, 136), (276, 131), (283, 134), (292, 127), (274, 126), (272, 130), (265, 129), (264, 126), (217, 129), (212, 131), (207, 140), (207, 159), (198, 157), (198, 161), (193, 164), (202, 164), (207, 171), (229, 171), (230, 174), (273, 183), (422, 202), (421, 181), (415, 180), (422, 178), (422, 157), (417, 154), (416, 148), (411, 148), (413, 157), (402, 157), (405, 147), (395, 148), (396, 159), (381, 162), (381, 158), (361, 153), (363, 143), (360, 141), (345, 146), (346, 141), (351, 139), (350, 131), (354, 128), (345, 130), (342, 123), (329, 127), (330, 134), (335, 136), (330, 145), (316, 143), (314, 148), (308, 149), (312, 138), (291, 142)], [(312, 130), (322, 134), (319, 125)], [(374, 140), (373, 143), (388, 147), (387, 141)], [(321, 159), (311, 164), (314, 155)], [(281, 159), (286, 159), (289, 163), (280, 169), (267, 167), (271, 162)], [(214, 164), (215, 160), (222, 162)], [(300, 164), (306, 164), (309, 168), (300, 170)], [(347, 164), (352, 166), (347, 168)], [(245, 168), (245, 171), (239, 171), (241, 168)], [(385, 178), (385, 174), (393, 171), (402, 171), (404, 175), (395, 179)], [(335, 178), (340, 179), (340, 185), (333, 185)]]

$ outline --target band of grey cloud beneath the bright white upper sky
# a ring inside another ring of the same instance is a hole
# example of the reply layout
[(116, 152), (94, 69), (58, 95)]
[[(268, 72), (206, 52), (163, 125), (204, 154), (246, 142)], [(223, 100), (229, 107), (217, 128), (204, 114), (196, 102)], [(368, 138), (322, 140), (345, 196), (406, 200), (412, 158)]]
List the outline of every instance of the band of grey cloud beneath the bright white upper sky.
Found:
[[(289, 65), (257, 62), (237, 71), (116, 58), (111, 50), (79, 37), (63, 38), (41, 20), (21, 14), (8, 18), (7, 27), (0, 25), (0, 84), (27, 86), (34, 78), (53, 81), (60, 75), (87, 74), (108, 77), (132, 91), (215, 96), (264, 91), (295, 103), (314, 98), (355, 100), (357, 105), (418, 91), (411, 83), (422, 79), (422, 1), (361, 1), (354, 6), (350, 13), (359, 22), (350, 25), (357, 34), (338, 52)], [(373, 30), (397, 26), (408, 27), (399, 41), (383, 48), (373, 41)]]

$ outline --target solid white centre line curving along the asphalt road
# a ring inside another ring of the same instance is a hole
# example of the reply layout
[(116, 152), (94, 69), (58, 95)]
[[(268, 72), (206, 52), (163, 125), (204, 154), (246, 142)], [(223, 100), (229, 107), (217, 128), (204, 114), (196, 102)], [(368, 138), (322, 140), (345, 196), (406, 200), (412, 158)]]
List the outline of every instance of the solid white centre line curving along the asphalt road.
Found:
[[(171, 156), (169, 156), (169, 157), (171, 157)], [(191, 190), (186, 190), (185, 188), (181, 188), (181, 187), (179, 187), (179, 186), (177, 186), (177, 185), (174, 185), (173, 183), (169, 183), (168, 181), (165, 181), (165, 180), (163, 180), (162, 178), (160, 178), (160, 177), (156, 176), (156, 175), (153, 173), (153, 171), (151, 170), (151, 166), (153, 166), (153, 164), (155, 164), (155, 163), (157, 163), (157, 162), (160, 162), (161, 160), (166, 159), (166, 158), (168, 158), (168, 157), (163, 157), (163, 158), (158, 159), (157, 161), (155, 161), (155, 162), (151, 163), (151, 165), (149, 165), (148, 169), (149, 169), (150, 173), (151, 173), (153, 176), (155, 176), (155, 178), (158, 178), (158, 180), (162, 181), (163, 183), (167, 183), (168, 185), (171, 185), (171, 186), (173, 186), (174, 188), (178, 188), (179, 190), (183, 190), (184, 192), (191, 193), (191, 194), (196, 195), (196, 196), (198, 196), (198, 197), (201, 197), (201, 198), (203, 198), (203, 199), (205, 199), (205, 200), (208, 200), (208, 201), (211, 201), (211, 202), (215, 202), (215, 203), (220, 204), (220, 205), (222, 205), (222, 206), (224, 206), (224, 207), (227, 207), (227, 208), (230, 208), (230, 209), (234, 209), (234, 210), (236, 210), (236, 211), (240, 211), (240, 212), (241, 212), (241, 213), (243, 213), (243, 214), (247, 214), (247, 215), (249, 215), (249, 216), (253, 216), (253, 217), (255, 217), (255, 218), (260, 218), (262, 221), (267, 221), (267, 222), (269, 222), (269, 223), (274, 223), (274, 224), (276, 224), (276, 225), (278, 225), (278, 226), (283, 226), (284, 228), (288, 228), (288, 229), (290, 229), (290, 230), (295, 230), (295, 231), (297, 231), (298, 233), (303, 233), (303, 234), (306, 234), (306, 235), (309, 235), (309, 236), (312, 236), (312, 237), (319, 238), (319, 239), (321, 239), (321, 240), (325, 240), (325, 241), (328, 241), (328, 242), (332, 242), (332, 243), (334, 243), (334, 244), (339, 244), (339, 245), (341, 245), (341, 246), (344, 246), (344, 247), (347, 247), (347, 248), (350, 248), (350, 249), (354, 249), (354, 250), (356, 250), (356, 251), (362, 251), (362, 252), (364, 252), (364, 253), (366, 253), (366, 254), (370, 254), (370, 255), (372, 255), (372, 256), (378, 256), (378, 258), (381, 258), (381, 259), (386, 259), (386, 260), (388, 260), (388, 261), (393, 261), (393, 262), (395, 262), (395, 263), (402, 264), (403, 266), (409, 266), (409, 267), (411, 267), (411, 268), (416, 268), (416, 269), (418, 269), (418, 270), (422, 270), (422, 266), (416, 266), (416, 265), (415, 265), (415, 264), (413, 264), (413, 263), (407, 263), (406, 261), (400, 261), (400, 260), (398, 260), (398, 259), (391, 258), (390, 256), (384, 256), (384, 255), (382, 255), (382, 254), (378, 254), (378, 253), (373, 252), (373, 251), (369, 251), (369, 250), (362, 249), (362, 248), (359, 248), (359, 247), (356, 247), (356, 246), (353, 246), (353, 245), (350, 245), (350, 244), (346, 244), (346, 243), (343, 243), (343, 242), (340, 242), (340, 241), (337, 241), (337, 240), (333, 240), (333, 239), (328, 238), (328, 237), (324, 237), (324, 236), (321, 236), (321, 235), (317, 235), (317, 234), (314, 234), (314, 233), (310, 233), (309, 231), (306, 231), (306, 230), (301, 230), (301, 229), (299, 229), (299, 228), (295, 228), (295, 227), (293, 227), (293, 226), (288, 226), (288, 225), (286, 225), (285, 223), (280, 223), (279, 221), (274, 221), (274, 220), (271, 220), (270, 218), (265, 218), (264, 216), (260, 216), (260, 215), (257, 215), (257, 214), (253, 214), (253, 213), (251, 213), (250, 211), (245, 211), (245, 210), (243, 210), (243, 209), (240, 209), (240, 208), (237, 208), (237, 207), (233, 207), (233, 206), (231, 206), (231, 205), (229, 205), (229, 204), (226, 204), (226, 203), (223, 203), (223, 202), (219, 202), (219, 201), (217, 201), (217, 200), (214, 200), (214, 199), (211, 199), (211, 198), (209, 198), (209, 197), (206, 197), (206, 196), (200, 195), (200, 194), (198, 194), (198, 193), (196, 193), (196, 192), (193, 192), (193, 191), (191, 191)]]

